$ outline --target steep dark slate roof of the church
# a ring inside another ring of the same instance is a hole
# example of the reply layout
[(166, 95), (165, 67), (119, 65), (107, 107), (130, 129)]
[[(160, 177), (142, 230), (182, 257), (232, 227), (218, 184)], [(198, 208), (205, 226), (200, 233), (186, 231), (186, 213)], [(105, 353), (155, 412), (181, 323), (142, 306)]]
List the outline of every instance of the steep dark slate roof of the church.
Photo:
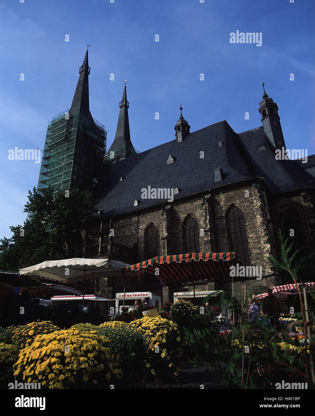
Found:
[[(219, 141), (222, 147), (218, 147)], [(258, 151), (258, 146), (264, 144), (266, 149)], [(200, 158), (201, 151), (204, 158)], [(174, 163), (167, 165), (169, 155)], [(215, 168), (222, 169), (222, 181), (215, 182)], [(174, 195), (175, 201), (255, 176), (265, 178), (274, 194), (305, 186), (315, 188), (314, 178), (298, 162), (275, 159), (263, 126), (236, 134), (223, 120), (191, 133), (181, 143), (174, 139), (113, 163), (106, 173), (104, 187), (97, 191), (97, 208), (103, 216), (110, 216), (167, 202), (166, 199), (142, 199), (141, 189), (148, 186), (151, 189), (178, 187), (180, 192)], [(312, 179), (314, 183), (308, 183)], [(133, 206), (135, 199), (140, 201), (138, 206)]]

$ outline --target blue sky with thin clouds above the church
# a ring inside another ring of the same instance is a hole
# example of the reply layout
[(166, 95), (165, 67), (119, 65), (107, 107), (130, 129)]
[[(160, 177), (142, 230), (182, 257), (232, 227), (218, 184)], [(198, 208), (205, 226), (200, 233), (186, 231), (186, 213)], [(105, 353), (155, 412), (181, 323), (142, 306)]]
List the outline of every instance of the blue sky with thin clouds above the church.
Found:
[[(261, 32), (262, 45), (231, 44), (237, 30)], [(43, 149), (48, 122), (71, 105), (87, 42), (90, 111), (107, 149), (124, 79), (131, 140), (144, 151), (175, 139), (180, 104), (190, 131), (224, 119), (237, 133), (261, 126), (263, 78), (287, 148), (315, 153), (313, 0), (0, 0), (0, 35), (0, 238), (25, 220), (40, 171), (8, 150)]]

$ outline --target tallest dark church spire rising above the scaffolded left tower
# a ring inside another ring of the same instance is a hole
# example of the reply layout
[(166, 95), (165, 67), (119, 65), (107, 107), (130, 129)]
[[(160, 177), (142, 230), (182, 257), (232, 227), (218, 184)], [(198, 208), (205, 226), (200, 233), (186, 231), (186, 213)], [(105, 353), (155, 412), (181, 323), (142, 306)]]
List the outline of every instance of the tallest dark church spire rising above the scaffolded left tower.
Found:
[[(87, 45), (89, 47), (90, 45)], [(79, 69), (79, 79), (77, 82), (77, 88), (75, 89), (75, 94), (72, 100), (70, 110), (74, 110), (79, 107), (86, 113), (90, 112), (90, 103), (89, 103), (89, 60), (88, 60), (88, 49), (85, 51), (85, 57), (83, 60), (82, 67)]]

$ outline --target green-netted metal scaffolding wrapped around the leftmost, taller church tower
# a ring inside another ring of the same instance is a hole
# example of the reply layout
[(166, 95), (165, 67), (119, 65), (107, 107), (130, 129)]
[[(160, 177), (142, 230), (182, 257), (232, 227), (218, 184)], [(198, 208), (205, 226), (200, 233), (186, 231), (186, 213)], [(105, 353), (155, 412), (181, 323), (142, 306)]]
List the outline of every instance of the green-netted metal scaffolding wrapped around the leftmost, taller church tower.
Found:
[(63, 111), (48, 124), (37, 192), (91, 189), (102, 176), (107, 131), (80, 107)]

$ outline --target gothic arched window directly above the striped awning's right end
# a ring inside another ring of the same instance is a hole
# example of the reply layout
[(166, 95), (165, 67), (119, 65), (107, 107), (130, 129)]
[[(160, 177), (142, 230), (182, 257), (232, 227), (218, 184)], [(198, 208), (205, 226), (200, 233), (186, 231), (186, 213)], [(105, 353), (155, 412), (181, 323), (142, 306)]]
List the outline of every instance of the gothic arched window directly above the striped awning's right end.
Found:
[(240, 208), (232, 206), (227, 213), (228, 237), (230, 250), (238, 254), (244, 265), (250, 265), (245, 218)]

